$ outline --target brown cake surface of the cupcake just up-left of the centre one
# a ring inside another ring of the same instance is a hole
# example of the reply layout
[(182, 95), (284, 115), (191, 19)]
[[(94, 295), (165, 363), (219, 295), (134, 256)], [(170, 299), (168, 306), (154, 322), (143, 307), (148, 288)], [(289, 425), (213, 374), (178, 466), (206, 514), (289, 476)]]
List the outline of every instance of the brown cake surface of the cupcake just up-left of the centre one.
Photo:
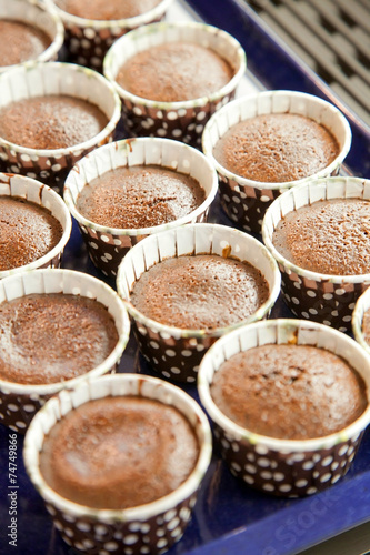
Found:
[(99, 225), (141, 229), (178, 220), (204, 200), (203, 188), (190, 175), (159, 165), (132, 165), (90, 181), (76, 208)]

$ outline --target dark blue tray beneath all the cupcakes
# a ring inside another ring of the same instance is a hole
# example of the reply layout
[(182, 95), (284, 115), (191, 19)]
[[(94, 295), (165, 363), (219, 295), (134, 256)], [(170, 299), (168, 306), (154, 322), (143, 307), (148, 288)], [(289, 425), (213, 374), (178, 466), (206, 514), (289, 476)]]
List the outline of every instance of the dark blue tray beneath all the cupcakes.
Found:
[[(191, 9), (189, 9), (190, 4)], [(197, 11), (192, 11), (196, 9)], [(176, 9), (171, 11), (171, 14), (174, 19), (177, 17), (204, 19), (229, 30), (234, 36), (238, 34), (238, 39), (241, 40), (244, 37), (243, 33), (246, 33), (246, 20), (240, 16), (236, 20), (236, 11), (233, 10), (238, 10), (239, 13), (239, 10), (241, 10), (239, 2), (193, 0), (176, 2)], [(212, 18), (209, 17), (211, 12), (213, 13)], [(254, 19), (253, 24), (258, 27)], [(256, 31), (254, 39), (260, 33), (262, 33), (263, 41), (268, 42), (270, 48), (272, 39), (264, 36), (264, 29), (260, 29), (259, 32)], [(259, 48), (263, 47), (263, 41), (261, 40)], [(247, 50), (247, 46), (243, 46)], [(282, 53), (280, 47), (278, 51), (280, 56)], [(289, 65), (290, 61), (287, 67), (289, 68)], [(303, 81), (301, 83), (303, 84)], [(249, 75), (248, 81), (244, 81), (241, 85), (241, 92), (244, 93), (259, 88), (262, 88), (260, 80), (254, 80), (254, 75)], [(292, 85), (286, 88), (292, 88)], [(301, 87), (301, 89), (297, 90), (306, 90), (306, 88)], [(356, 117), (351, 123), (357, 124)], [(361, 152), (368, 152), (370, 141), (362, 124), (359, 125), (359, 137)], [(362, 164), (361, 172), (366, 174), (368, 170), (366, 163), (362, 162), (362, 158), (357, 163), (358, 165)], [(356, 167), (350, 167), (349, 171), (356, 173)], [(233, 225), (221, 211), (218, 199), (212, 205), (210, 221)], [(114, 282), (106, 279), (90, 262), (76, 222), (73, 222), (72, 234), (64, 252), (62, 266), (90, 273), (114, 287)], [(271, 317), (292, 317), (281, 297), (276, 303)], [(142, 372), (154, 375), (138, 353), (133, 337), (130, 339), (123, 353), (119, 372)], [(198, 400), (196, 386), (180, 386)], [(8, 474), (10, 434), (12, 432), (0, 425), (0, 554), (73, 555), (74, 551), (61, 539), (58, 531), (52, 526), (51, 517), (47, 513), (41, 497), (28, 480), (22, 462), (23, 438), (20, 435), (17, 440), (16, 472), (18, 537), (17, 546), (9, 545), (10, 497), (8, 494), (14, 490), (13, 485), (10, 486)], [(242, 482), (239, 482), (230, 474), (219, 454), (214, 452), (199, 493), (192, 519), (182, 539), (168, 554), (293, 555), (353, 526), (366, 523), (370, 519), (369, 462), (370, 430), (364, 434), (351, 470), (338, 484), (311, 497), (281, 500), (254, 492)]]

